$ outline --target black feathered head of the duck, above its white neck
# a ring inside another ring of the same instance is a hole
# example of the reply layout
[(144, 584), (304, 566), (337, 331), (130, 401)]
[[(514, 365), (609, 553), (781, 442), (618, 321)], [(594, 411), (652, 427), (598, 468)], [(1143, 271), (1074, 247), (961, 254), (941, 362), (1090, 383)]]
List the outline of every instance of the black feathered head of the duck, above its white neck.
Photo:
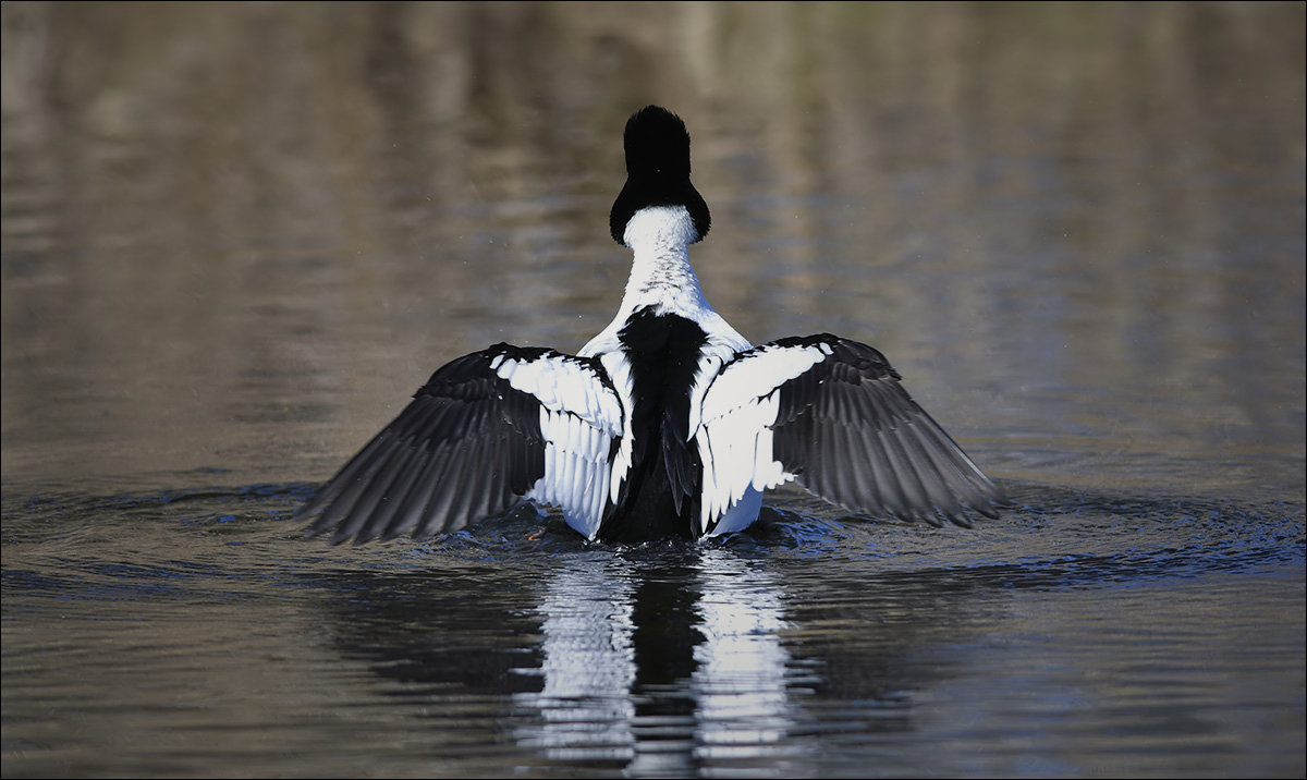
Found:
[[(685, 206), (702, 239), (708, 233), (708, 204), (690, 183), (690, 133), (676, 114), (646, 106), (626, 120), (626, 186), (608, 217), (613, 240), (625, 244), (626, 223), (647, 206)], [(698, 240), (698, 239), (695, 239)]]

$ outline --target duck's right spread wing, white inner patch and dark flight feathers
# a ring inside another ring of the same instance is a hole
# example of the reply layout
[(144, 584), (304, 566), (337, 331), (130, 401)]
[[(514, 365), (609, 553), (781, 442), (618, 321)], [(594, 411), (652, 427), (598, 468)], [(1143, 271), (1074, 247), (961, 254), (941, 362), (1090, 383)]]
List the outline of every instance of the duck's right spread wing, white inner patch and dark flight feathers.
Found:
[(829, 333), (740, 353), (708, 387), (695, 436), (704, 532), (746, 490), (788, 479), (856, 512), (932, 525), (970, 527), (968, 512), (995, 517), (1006, 502), (880, 351)]

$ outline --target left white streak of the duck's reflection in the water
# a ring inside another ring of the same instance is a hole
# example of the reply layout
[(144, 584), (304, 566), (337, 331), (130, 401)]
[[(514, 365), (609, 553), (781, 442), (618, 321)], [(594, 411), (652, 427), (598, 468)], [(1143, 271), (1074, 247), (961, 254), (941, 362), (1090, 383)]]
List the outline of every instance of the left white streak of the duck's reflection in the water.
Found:
[(633, 585), (618, 563), (589, 559), (554, 570), (540, 604), (544, 690), (515, 696), (538, 711), (540, 723), (519, 729), (518, 741), (552, 759), (633, 755)]

